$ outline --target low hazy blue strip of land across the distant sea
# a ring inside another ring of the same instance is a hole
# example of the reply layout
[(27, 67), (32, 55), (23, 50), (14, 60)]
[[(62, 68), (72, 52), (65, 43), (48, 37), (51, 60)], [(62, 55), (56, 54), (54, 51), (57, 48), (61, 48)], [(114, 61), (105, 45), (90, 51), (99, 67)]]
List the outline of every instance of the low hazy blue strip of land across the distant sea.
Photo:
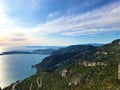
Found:
[(33, 51), (6, 51), (2, 52), (0, 55), (11, 55), (11, 54), (43, 54), (43, 55), (50, 55), (53, 53), (54, 49), (36, 49)]

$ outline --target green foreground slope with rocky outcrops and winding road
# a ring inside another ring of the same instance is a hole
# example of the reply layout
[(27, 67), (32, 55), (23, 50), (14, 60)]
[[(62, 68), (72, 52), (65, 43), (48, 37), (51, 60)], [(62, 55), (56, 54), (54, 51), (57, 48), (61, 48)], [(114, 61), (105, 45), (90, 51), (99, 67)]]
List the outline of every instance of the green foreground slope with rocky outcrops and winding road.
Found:
[(38, 72), (3, 90), (11, 90), (14, 85), (14, 90), (119, 90), (117, 66), (117, 62), (107, 62), (105, 66), (74, 63), (59, 71)]

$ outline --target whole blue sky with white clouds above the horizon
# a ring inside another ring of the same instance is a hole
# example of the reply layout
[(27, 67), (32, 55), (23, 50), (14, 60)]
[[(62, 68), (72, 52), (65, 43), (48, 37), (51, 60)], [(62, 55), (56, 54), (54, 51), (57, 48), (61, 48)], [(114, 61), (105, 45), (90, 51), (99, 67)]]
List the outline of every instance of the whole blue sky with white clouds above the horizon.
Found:
[(120, 0), (0, 0), (0, 46), (66, 46), (120, 38)]

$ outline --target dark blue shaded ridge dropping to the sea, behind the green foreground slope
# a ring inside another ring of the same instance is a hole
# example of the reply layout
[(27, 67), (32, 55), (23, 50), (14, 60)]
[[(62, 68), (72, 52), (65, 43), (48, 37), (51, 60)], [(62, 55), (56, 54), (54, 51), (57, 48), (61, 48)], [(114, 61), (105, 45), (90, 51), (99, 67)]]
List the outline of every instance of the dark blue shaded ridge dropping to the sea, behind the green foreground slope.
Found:
[[(95, 52), (97, 47), (91, 45), (72, 45), (66, 48), (61, 48), (51, 56), (46, 57), (43, 61), (36, 65), (37, 71), (56, 70), (63, 66), (76, 62), (76, 60), (93, 58), (91, 54)], [(91, 53), (92, 52), (92, 53)], [(86, 56), (87, 55), (87, 56)]]

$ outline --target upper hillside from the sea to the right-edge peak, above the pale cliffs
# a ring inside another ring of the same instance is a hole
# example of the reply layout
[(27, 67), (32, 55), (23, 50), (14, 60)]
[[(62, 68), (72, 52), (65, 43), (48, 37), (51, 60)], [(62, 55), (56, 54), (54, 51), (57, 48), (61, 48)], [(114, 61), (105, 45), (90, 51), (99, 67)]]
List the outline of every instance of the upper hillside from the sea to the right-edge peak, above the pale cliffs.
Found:
[[(61, 48), (51, 56), (46, 57), (43, 61), (36, 65), (37, 71), (56, 70), (76, 61), (104, 61), (118, 59), (120, 53), (120, 39), (112, 43), (95, 47), (91, 45), (72, 45)], [(116, 55), (115, 55), (116, 54)]]

